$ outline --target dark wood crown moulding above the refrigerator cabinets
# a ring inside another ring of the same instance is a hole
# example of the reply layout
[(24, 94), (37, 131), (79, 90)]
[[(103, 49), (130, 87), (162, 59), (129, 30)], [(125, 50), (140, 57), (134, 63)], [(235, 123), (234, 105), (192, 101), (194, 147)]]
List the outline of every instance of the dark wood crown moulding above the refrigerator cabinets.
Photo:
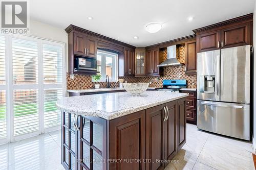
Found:
[(218, 28), (218, 27), (223, 27), (223, 26), (226, 26), (226, 25), (230, 25), (232, 23), (237, 23), (237, 22), (241, 22), (241, 21), (245, 21), (245, 20), (252, 20), (252, 19), (253, 19), (253, 13), (250, 13), (250, 14), (247, 14), (247, 15), (239, 16), (239, 17), (236, 17), (236, 18), (232, 18), (232, 19), (229, 19), (229, 20), (222, 21), (222, 22), (218, 22), (218, 23), (215, 23), (213, 25), (209, 25), (209, 26), (206, 26), (206, 27), (195, 29), (195, 30), (193, 30), (193, 32), (197, 34), (199, 32), (207, 31), (207, 30), (210, 30), (210, 29)]

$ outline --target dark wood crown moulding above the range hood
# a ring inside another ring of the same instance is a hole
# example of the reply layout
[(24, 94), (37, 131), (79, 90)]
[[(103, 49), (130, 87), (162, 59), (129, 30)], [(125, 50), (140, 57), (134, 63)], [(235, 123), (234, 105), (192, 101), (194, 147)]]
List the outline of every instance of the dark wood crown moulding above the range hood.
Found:
[(189, 36), (186, 36), (186, 37), (181, 37), (181, 38), (177, 38), (177, 39), (157, 43), (157, 44), (154, 44), (154, 45), (146, 46), (146, 50), (151, 49), (151, 48), (165, 48), (165, 47), (170, 46), (170, 45), (182, 44), (182, 43), (185, 43), (186, 41), (195, 40), (195, 39), (196, 39), (195, 34), (194, 35), (189, 35)]

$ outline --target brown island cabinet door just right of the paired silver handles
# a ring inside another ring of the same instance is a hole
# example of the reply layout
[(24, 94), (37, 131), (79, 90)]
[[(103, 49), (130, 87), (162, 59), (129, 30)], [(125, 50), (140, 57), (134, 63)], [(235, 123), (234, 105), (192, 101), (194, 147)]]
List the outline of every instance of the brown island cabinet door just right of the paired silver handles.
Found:
[[(177, 101), (166, 103), (168, 118), (165, 121), (165, 160), (171, 160), (177, 153)], [(165, 163), (165, 166), (168, 163)]]

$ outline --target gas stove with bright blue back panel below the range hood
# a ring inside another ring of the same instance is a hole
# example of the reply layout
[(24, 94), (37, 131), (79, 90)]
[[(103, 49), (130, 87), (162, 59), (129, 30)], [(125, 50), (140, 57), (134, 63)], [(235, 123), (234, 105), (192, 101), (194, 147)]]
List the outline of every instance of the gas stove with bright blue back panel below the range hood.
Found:
[(157, 88), (159, 91), (179, 92), (181, 88), (186, 88), (186, 80), (163, 80), (163, 87)]

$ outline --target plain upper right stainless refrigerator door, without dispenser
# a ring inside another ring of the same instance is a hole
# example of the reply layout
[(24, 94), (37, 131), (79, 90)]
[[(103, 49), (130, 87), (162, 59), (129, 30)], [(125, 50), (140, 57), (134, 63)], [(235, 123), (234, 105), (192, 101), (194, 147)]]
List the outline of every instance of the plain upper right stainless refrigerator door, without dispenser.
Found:
[(221, 50), (220, 100), (250, 103), (250, 45)]

